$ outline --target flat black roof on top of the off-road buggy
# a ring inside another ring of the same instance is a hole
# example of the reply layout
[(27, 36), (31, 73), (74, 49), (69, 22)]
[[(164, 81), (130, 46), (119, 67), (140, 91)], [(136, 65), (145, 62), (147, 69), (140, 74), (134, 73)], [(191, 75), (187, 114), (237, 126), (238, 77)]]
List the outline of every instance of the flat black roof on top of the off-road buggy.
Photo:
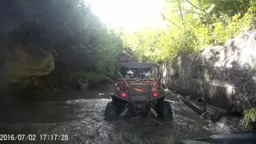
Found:
[(154, 63), (143, 63), (143, 62), (123, 62), (119, 66), (130, 68), (130, 69), (148, 69), (156, 66)]

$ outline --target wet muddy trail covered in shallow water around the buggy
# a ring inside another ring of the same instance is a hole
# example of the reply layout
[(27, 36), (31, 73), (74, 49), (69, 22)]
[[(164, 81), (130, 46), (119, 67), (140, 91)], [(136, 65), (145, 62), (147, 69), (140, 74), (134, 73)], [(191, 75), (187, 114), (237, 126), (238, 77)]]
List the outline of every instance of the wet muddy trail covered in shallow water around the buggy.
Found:
[[(40, 95), (30, 100), (1, 101), (1, 134), (34, 134), (34, 141), (24, 138), (23, 141), (3, 142), (176, 143), (188, 138), (208, 137), (220, 130), (200, 118), (174, 94), (166, 96), (173, 109), (172, 122), (162, 122), (150, 116), (106, 122), (104, 110), (110, 102), (108, 94), (111, 92), (113, 86), (100, 86), (94, 90), (64, 90), (56, 95)], [(42, 134), (47, 134), (46, 138)], [(48, 137), (50, 134), (58, 134), (59, 137), (52, 139)]]

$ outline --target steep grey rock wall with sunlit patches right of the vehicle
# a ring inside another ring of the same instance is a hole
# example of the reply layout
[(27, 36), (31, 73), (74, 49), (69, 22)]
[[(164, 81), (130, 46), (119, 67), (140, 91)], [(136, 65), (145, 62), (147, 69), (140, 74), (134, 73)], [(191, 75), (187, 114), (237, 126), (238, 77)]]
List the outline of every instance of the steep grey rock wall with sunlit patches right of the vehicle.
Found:
[(256, 98), (256, 30), (162, 65), (163, 84), (184, 96), (242, 112)]

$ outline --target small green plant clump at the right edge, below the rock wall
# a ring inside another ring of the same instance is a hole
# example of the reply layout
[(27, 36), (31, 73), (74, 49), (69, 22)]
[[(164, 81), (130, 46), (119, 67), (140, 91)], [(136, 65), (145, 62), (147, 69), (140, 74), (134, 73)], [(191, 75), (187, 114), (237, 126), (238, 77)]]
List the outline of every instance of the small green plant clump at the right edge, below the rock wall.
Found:
[(242, 126), (245, 129), (250, 129), (252, 124), (256, 122), (256, 108), (246, 110), (242, 118)]

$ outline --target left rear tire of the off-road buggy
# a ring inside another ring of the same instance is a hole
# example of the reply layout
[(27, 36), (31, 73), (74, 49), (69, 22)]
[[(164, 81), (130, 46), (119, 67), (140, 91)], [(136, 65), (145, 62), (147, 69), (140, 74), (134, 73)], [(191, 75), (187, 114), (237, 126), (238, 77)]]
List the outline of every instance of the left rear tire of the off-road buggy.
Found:
[(118, 115), (116, 114), (114, 103), (108, 102), (105, 109), (105, 120), (113, 121), (116, 118), (118, 118)]

